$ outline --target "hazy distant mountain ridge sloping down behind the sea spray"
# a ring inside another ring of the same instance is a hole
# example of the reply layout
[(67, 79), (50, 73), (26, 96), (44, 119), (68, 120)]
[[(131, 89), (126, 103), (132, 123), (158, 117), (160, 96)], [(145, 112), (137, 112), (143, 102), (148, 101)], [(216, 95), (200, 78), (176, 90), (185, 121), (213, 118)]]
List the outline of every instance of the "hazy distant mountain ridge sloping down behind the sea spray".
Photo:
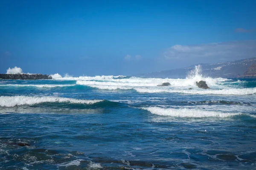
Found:
[[(223, 77), (223, 78), (256, 78), (244, 77), (250, 72), (250, 75), (256, 75), (253, 72), (253, 65), (256, 64), (256, 57), (239, 59), (230, 62), (218, 62), (216, 64), (197, 64), (201, 65), (202, 74), (209, 77)], [(253, 68), (250, 68), (250, 67)], [(250, 68), (250, 69), (249, 69)], [(158, 78), (185, 78), (189, 71), (195, 69), (195, 65), (186, 68), (177, 68), (165, 71), (151, 72), (145, 74), (138, 74), (137, 77), (158, 77)], [(249, 70), (248, 70), (249, 69)]]

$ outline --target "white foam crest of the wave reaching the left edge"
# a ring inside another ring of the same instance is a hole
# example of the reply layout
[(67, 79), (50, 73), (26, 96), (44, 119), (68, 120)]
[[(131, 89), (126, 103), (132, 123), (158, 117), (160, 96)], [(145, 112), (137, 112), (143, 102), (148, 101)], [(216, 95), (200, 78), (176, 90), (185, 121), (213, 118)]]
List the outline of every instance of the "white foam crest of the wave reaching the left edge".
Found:
[(78, 104), (93, 104), (102, 102), (103, 100), (84, 100), (72, 99), (64, 97), (49, 97), (49, 96), (0, 96), (0, 106), (14, 107), (17, 105), (35, 105), (44, 102), (70, 102)]

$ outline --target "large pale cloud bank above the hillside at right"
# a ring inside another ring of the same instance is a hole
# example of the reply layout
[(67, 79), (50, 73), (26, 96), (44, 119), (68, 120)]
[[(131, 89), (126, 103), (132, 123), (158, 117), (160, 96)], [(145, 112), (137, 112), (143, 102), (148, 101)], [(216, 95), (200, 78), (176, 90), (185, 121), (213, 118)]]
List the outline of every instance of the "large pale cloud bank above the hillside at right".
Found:
[(235, 60), (256, 56), (256, 40), (217, 42), (201, 45), (173, 45), (167, 48), (163, 56), (165, 59), (195, 60), (209, 62), (209, 60)]

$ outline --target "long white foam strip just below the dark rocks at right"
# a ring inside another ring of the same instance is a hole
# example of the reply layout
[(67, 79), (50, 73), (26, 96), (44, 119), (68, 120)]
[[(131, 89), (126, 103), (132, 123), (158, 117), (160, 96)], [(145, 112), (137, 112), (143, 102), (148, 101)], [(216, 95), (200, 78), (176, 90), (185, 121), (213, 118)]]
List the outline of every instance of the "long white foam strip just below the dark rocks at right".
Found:
[(248, 95), (256, 94), (256, 88), (227, 88), (222, 90), (213, 89), (171, 89), (171, 88), (135, 88), (139, 93), (184, 93), (184, 94), (220, 94), (220, 95)]

